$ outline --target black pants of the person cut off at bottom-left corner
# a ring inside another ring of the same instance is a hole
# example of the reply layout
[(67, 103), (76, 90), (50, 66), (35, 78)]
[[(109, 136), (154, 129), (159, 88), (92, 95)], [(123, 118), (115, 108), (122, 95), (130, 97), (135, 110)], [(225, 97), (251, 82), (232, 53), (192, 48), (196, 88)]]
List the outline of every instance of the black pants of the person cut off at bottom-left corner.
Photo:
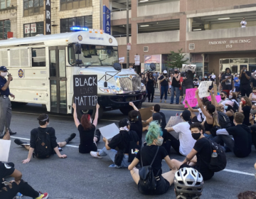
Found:
[(17, 193), (21, 193), (22, 195), (38, 198), (39, 193), (34, 190), (31, 185), (28, 185), (25, 181), (21, 180), (21, 183), (18, 185), (16, 182), (11, 183), (11, 185), (6, 185), (4, 188), (0, 189), (0, 198), (3, 199), (13, 199)]

